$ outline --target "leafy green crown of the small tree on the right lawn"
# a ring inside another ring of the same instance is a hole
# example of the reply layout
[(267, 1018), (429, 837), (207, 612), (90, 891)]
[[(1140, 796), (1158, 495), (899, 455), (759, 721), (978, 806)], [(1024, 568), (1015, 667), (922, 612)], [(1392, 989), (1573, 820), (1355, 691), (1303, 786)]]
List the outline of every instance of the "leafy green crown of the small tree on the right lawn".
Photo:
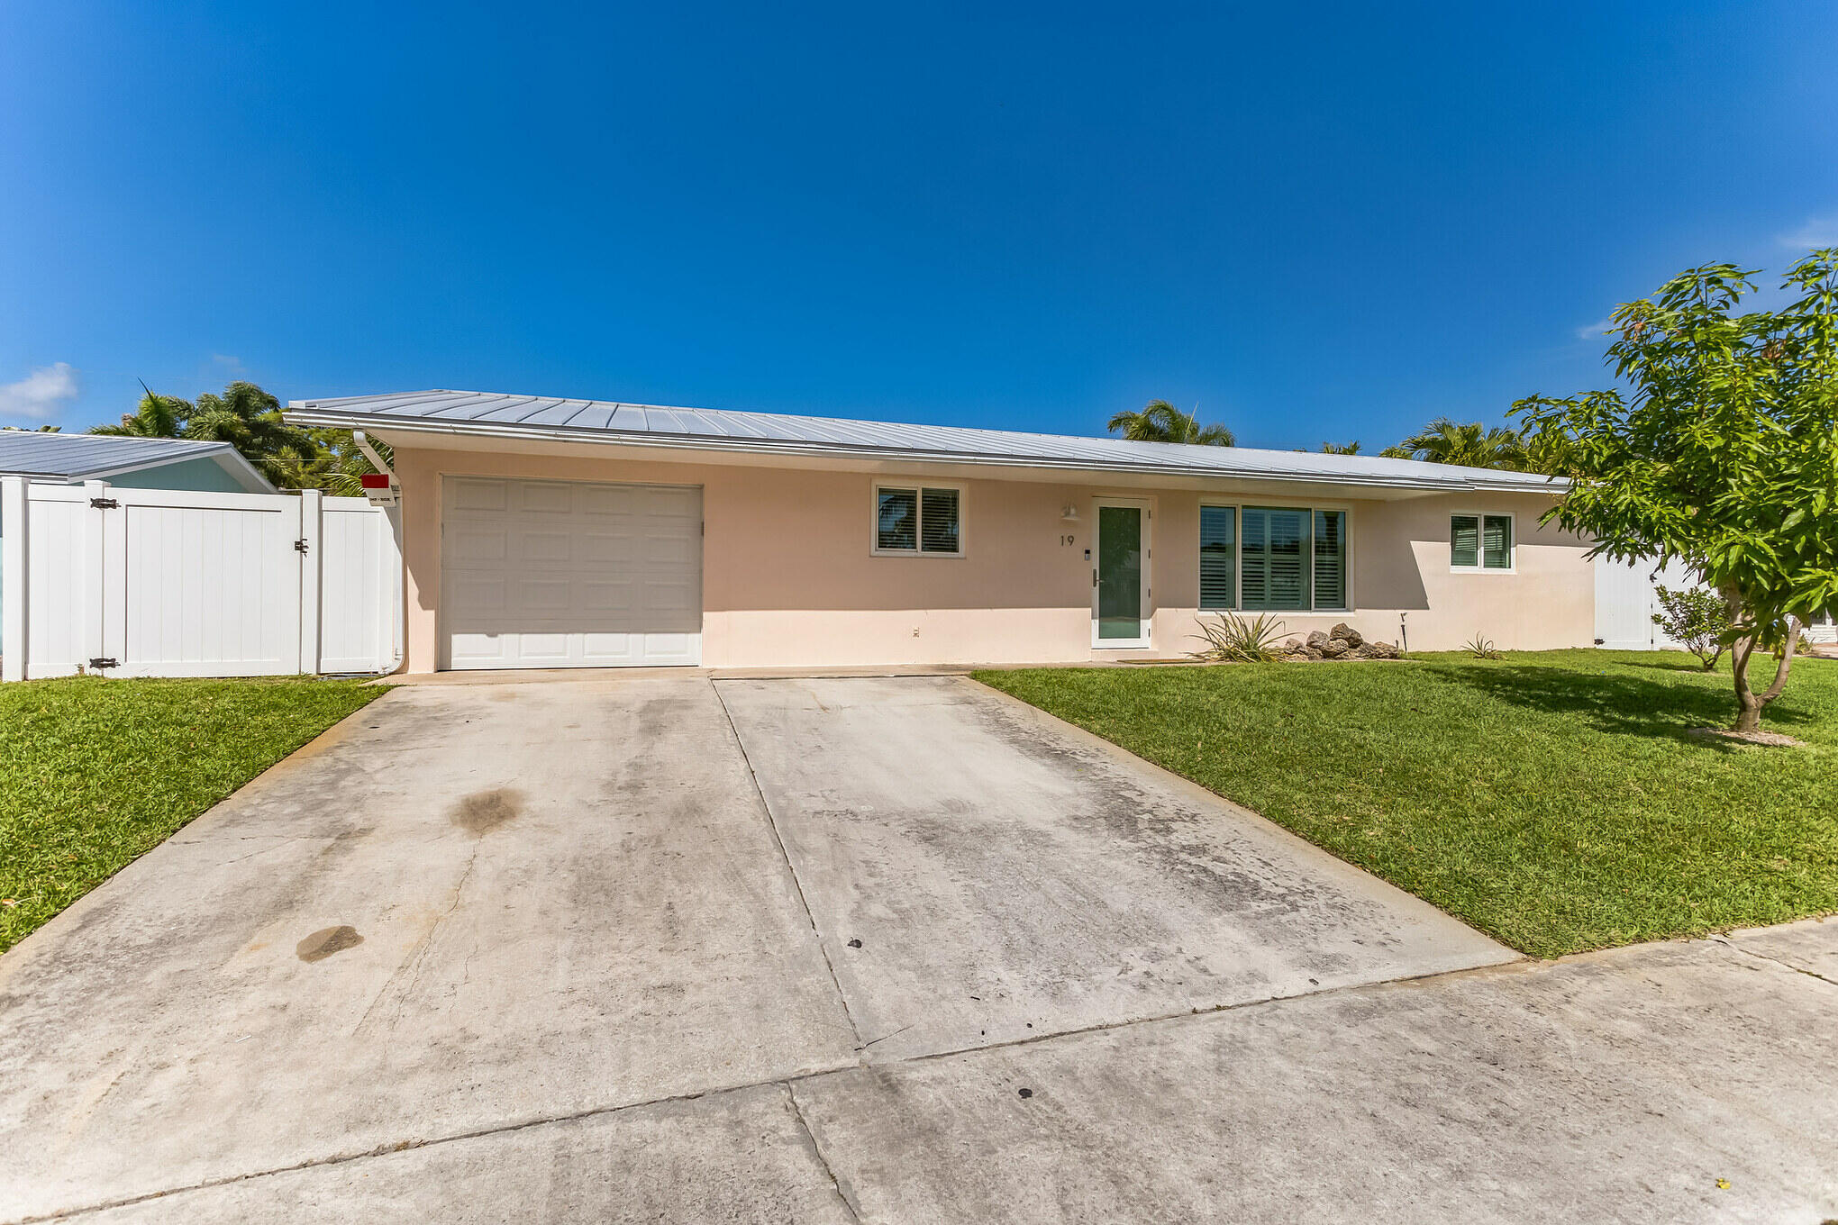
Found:
[(1702, 264), (1616, 310), (1625, 395), (1513, 406), (1566, 459), (1546, 518), (1619, 560), (1682, 558), (1741, 602), (1742, 635), (1838, 601), (1838, 248), (1787, 272), (1783, 310), (1741, 310), (1753, 277)]

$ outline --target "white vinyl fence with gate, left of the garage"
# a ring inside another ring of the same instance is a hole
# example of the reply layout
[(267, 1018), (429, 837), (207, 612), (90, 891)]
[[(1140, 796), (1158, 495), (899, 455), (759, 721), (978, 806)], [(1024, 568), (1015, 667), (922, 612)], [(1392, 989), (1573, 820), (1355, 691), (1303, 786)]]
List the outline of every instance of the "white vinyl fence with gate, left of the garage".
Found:
[(391, 512), (362, 498), (0, 479), (0, 676), (388, 672)]

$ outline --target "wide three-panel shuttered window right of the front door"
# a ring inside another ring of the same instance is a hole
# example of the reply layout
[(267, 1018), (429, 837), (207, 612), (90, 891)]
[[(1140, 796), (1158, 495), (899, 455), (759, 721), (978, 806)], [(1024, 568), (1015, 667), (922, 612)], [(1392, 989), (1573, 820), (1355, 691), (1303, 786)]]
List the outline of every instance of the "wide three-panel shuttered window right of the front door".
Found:
[(1347, 512), (1202, 505), (1200, 608), (1345, 612)]

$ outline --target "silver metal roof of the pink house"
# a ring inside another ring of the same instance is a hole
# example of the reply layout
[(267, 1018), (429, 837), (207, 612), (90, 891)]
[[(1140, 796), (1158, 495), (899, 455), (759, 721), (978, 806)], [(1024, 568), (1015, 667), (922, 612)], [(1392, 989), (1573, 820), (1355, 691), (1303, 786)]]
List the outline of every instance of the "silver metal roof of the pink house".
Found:
[(1088, 468), (1162, 476), (1323, 481), (1423, 490), (1551, 490), (1562, 481), (1533, 472), (1496, 472), (1318, 452), (1193, 446), (1129, 439), (913, 426), (720, 408), (662, 408), (612, 400), (557, 400), (485, 391), (401, 391), (292, 400), (296, 424), (434, 430), (491, 437), (540, 437), (790, 455), (853, 455), (917, 463)]

